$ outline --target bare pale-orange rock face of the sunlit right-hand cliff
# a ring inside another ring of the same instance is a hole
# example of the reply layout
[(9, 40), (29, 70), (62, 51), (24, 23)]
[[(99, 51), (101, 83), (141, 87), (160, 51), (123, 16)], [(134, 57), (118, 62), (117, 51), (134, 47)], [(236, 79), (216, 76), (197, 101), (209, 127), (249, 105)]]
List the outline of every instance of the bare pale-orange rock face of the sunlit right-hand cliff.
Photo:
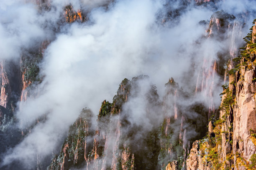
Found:
[[(243, 70), (244, 80), (239, 80), (236, 85), (236, 106), (234, 107), (234, 131), (233, 131), (233, 153), (238, 153), (243, 159), (249, 161), (251, 155), (256, 153), (251, 134), (256, 131), (256, 103), (255, 76), (253, 70)], [(252, 130), (252, 132), (251, 132)]]

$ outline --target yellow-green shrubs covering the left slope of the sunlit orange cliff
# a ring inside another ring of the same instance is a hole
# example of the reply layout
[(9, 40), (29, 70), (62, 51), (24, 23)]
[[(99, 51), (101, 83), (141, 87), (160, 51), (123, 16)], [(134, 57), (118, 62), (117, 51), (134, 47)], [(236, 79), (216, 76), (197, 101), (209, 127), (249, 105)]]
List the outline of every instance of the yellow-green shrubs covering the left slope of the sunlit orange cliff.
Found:
[[(231, 85), (236, 85), (235, 82), (230, 82)], [(213, 133), (207, 134), (203, 140), (200, 141), (200, 155), (202, 156), (202, 160), (204, 161), (205, 165), (210, 166), (213, 170), (218, 169), (230, 169), (230, 166), (226, 163), (226, 161), (220, 160), (219, 152), (220, 152), (220, 146), (222, 145), (222, 136), (228, 136), (233, 133), (233, 123), (230, 124), (230, 127), (228, 127), (228, 131), (223, 131), (222, 126), (223, 123), (226, 122), (227, 117), (230, 115), (230, 108), (235, 105), (235, 96), (228, 88), (228, 83), (222, 86), (223, 87), (223, 93), (221, 95), (224, 95), (222, 103), (219, 107), (220, 110), (224, 111), (224, 114), (221, 117), (216, 117), (215, 115), (212, 115), (210, 118), (211, 121), (213, 121)], [(209, 121), (210, 121), (209, 120)], [(229, 145), (233, 145), (232, 139), (225, 140), (226, 143), (229, 143)], [(232, 153), (227, 153), (227, 161), (231, 160), (233, 158)], [(224, 165), (226, 168), (224, 168)]]

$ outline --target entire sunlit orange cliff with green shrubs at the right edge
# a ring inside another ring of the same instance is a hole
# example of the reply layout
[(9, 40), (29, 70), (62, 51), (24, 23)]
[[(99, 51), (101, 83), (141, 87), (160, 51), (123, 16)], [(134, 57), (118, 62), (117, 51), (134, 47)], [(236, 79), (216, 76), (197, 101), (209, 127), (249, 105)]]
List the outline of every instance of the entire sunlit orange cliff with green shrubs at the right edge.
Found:
[[(254, 23), (254, 22), (253, 22)], [(251, 28), (253, 30), (255, 26)], [(193, 143), (187, 170), (255, 169), (255, 50), (251, 31), (247, 45), (233, 59), (237, 64), (228, 71), (229, 83), (223, 85), (220, 116), (212, 117), (205, 139)]]

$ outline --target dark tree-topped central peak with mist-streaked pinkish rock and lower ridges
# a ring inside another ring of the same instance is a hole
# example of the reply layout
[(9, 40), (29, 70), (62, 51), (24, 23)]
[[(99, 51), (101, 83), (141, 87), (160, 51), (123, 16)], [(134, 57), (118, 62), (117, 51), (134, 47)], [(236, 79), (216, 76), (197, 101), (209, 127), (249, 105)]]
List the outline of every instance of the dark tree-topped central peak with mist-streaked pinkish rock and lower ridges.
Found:
[[(113, 169), (113, 170), (133, 170), (133, 169), (157, 169), (157, 160), (159, 155), (158, 127), (153, 130), (143, 129), (140, 125), (131, 125), (129, 121), (129, 112), (122, 112), (123, 105), (129, 101), (129, 98), (137, 97), (140, 88), (138, 81), (148, 79), (147, 76), (133, 77), (132, 80), (124, 79), (113, 98), (113, 103), (106, 100), (102, 102), (100, 112), (97, 118), (97, 128), (95, 135), (88, 136), (81, 140), (86, 152), (76, 157), (69, 156), (67, 152), (70, 145), (76, 145), (76, 140), (67, 137), (63, 144), (60, 155), (52, 160), (49, 170), (64, 170), (71, 166), (86, 166), (89, 169)], [(131, 92), (133, 91), (133, 92)], [(148, 106), (159, 105), (159, 96), (152, 85), (146, 93)], [(148, 115), (156, 114), (154, 110), (146, 110)], [(70, 129), (70, 132), (76, 128)], [(140, 132), (141, 131), (141, 132)], [(145, 133), (143, 136), (138, 134)], [(88, 148), (88, 149), (87, 149)], [(77, 147), (79, 150), (79, 146)], [(69, 160), (69, 164), (65, 164)], [(59, 166), (57, 166), (59, 165)]]

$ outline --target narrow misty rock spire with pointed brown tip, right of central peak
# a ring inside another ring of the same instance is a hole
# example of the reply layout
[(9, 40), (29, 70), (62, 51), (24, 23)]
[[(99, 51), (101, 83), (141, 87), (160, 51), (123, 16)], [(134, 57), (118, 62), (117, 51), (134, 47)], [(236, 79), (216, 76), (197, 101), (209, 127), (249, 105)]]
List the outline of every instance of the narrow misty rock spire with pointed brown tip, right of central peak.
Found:
[[(179, 88), (173, 78), (165, 84), (166, 92), (164, 96), (165, 118), (161, 126), (159, 164), (161, 168), (172, 168), (174, 165), (169, 162), (176, 161), (177, 164), (184, 165), (184, 158), (187, 154), (186, 129), (184, 129), (185, 115), (179, 109), (179, 100), (184, 97), (184, 92)], [(177, 167), (178, 168), (178, 167)]]

